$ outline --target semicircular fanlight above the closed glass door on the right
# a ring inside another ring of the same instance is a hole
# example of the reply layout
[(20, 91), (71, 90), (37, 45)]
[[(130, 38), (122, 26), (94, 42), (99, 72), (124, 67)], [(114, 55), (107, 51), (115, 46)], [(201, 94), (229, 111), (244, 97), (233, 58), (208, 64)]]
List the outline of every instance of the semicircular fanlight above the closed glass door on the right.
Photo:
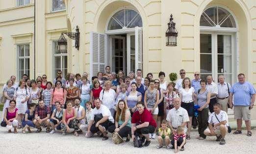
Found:
[(230, 12), (219, 6), (210, 7), (204, 11), (200, 26), (236, 28), (235, 20)]

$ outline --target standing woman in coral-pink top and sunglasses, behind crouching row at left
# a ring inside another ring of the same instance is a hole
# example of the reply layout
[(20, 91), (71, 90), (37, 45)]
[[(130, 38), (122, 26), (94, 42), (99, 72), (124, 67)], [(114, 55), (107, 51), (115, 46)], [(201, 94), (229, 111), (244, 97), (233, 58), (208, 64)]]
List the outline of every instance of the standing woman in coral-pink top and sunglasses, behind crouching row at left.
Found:
[(50, 102), (51, 111), (56, 109), (55, 102), (57, 101), (60, 102), (61, 108), (64, 108), (66, 97), (67, 97), (67, 91), (61, 88), (61, 82), (56, 81), (55, 88), (53, 88), (53, 90), (51, 91), (51, 102)]

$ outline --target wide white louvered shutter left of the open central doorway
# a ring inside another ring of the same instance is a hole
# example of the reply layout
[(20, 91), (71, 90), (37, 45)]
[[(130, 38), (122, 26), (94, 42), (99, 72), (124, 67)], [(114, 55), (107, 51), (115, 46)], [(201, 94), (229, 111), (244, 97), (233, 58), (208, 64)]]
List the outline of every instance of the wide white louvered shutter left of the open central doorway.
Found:
[(90, 76), (104, 72), (106, 66), (106, 34), (91, 32), (90, 41)]

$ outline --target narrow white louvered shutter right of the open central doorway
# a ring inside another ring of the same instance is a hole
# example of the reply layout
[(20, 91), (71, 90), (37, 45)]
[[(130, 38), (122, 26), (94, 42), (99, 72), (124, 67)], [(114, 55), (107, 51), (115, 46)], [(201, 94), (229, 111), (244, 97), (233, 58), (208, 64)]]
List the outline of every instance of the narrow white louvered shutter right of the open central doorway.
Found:
[(142, 28), (135, 27), (135, 71), (142, 69)]

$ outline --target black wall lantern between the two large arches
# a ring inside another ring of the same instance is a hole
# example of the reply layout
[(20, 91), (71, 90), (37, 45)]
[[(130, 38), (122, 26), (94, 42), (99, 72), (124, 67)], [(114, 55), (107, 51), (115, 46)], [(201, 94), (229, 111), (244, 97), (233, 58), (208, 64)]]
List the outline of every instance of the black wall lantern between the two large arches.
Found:
[(165, 32), (166, 46), (177, 46), (178, 32), (175, 28), (175, 22), (173, 22), (173, 15), (171, 14), (170, 22), (168, 23), (168, 29)]

